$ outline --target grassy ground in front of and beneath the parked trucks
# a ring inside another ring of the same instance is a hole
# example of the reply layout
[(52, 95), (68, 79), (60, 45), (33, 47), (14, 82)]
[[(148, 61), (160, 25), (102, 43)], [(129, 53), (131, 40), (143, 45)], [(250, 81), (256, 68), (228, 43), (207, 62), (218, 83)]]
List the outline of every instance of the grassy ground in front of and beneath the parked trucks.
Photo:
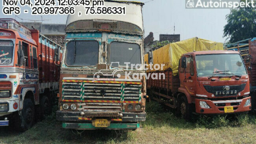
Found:
[[(62, 129), (55, 113), (32, 129), (18, 133), (0, 127), (0, 144), (115, 144), (115, 143), (256, 143), (256, 116), (194, 116), (192, 122), (176, 117), (156, 102), (147, 103), (147, 120), (135, 131)], [(81, 133), (82, 132), (82, 133)]]

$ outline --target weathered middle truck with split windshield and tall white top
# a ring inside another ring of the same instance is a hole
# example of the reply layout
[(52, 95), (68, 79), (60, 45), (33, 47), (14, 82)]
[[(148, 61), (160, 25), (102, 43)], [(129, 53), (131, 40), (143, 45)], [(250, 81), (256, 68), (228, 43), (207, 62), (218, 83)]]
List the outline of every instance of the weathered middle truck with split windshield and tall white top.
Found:
[(143, 3), (104, 6), (125, 7), (125, 15), (77, 7), (82, 15), (67, 18), (56, 114), (66, 129), (137, 129), (146, 119), (145, 70), (134, 66), (144, 61)]

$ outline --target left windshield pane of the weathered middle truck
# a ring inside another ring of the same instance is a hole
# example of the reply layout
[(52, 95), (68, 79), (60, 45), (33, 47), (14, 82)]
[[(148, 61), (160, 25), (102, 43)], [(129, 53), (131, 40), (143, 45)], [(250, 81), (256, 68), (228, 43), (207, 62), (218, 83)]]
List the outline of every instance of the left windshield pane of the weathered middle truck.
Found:
[(95, 66), (98, 63), (97, 41), (70, 41), (65, 62), (68, 66)]

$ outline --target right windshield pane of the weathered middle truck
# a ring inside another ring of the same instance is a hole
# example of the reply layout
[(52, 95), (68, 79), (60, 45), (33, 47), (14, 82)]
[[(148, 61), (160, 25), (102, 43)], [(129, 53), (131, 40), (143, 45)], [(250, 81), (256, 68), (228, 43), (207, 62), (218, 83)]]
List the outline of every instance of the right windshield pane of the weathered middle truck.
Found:
[(126, 66), (125, 63), (130, 63), (128, 66), (131, 68), (131, 64), (141, 64), (141, 49), (138, 44), (112, 42), (110, 44), (109, 57), (110, 62), (113, 64), (111, 67)]

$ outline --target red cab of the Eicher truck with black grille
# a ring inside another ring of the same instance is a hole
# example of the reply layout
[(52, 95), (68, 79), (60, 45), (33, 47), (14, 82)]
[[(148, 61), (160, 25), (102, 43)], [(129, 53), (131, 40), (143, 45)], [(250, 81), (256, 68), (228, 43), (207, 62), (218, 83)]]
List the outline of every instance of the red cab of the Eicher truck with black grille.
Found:
[[(250, 84), (239, 52), (200, 51), (183, 54), (179, 65), (180, 87), (187, 103), (198, 114), (250, 111)], [(189, 111), (182, 111), (186, 115)], [(182, 113), (181, 112), (181, 113)]]

